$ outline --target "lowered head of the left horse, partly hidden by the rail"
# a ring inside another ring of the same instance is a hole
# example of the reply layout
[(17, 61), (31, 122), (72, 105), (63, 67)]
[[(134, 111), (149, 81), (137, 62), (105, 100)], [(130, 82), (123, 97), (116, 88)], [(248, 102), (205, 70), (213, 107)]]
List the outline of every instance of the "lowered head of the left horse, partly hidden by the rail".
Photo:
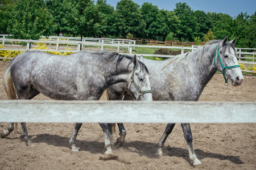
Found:
[(152, 91), (150, 87), (150, 74), (142, 61), (138, 61), (136, 55), (133, 56), (133, 70), (131, 71), (131, 82), (129, 90), (134, 100), (152, 101)]

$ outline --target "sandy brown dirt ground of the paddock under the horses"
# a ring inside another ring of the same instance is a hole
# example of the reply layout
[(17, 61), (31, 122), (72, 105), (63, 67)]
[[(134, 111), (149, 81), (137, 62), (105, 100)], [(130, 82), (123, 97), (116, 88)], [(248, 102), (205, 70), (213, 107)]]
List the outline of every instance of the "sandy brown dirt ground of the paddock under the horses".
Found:
[[(0, 61), (0, 79), (9, 62)], [(0, 100), (7, 96), (0, 85)], [(42, 95), (33, 100), (49, 100)], [(216, 74), (205, 87), (200, 101), (256, 101), (256, 76), (245, 75), (239, 87), (224, 86)], [(241, 111), (243, 114), (243, 111)], [(1, 120), (0, 120), (1, 122)], [(180, 124), (169, 135), (163, 157), (155, 158), (156, 143), (166, 124), (125, 124), (123, 147), (114, 151), (116, 160), (100, 160), (104, 138), (98, 124), (83, 124), (77, 136), (79, 154), (68, 145), (73, 124), (27, 124), (35, 147), (28, 147), (18, 125), (18, 134), (0, 139), (0, 169), (194, 169)], [(0, 123), (0, 131), (7, 123)], [(256, 124), (191, 124), (193, 146), (202, 169), (256, 169)], [(118, 133), (114, 135), (114, 141)]]

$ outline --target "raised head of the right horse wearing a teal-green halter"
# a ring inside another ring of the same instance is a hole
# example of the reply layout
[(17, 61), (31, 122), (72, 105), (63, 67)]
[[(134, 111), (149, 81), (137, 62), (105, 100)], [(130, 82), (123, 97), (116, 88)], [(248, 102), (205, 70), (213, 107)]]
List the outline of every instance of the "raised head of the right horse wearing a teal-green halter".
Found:
[(228, 42), (228, 36), (226, 36), (225, 39), (216, 46), (214, 63), (216, 69), (222, 72), (225, 78), (225, 83), (228, 83), (228, 79), (230, 79), (233, 86), (240, 86), (243, 82), (243, 75), (240, 65), (238, 65), (237, 52), (234, 48), (236, 40), (237, 37)]

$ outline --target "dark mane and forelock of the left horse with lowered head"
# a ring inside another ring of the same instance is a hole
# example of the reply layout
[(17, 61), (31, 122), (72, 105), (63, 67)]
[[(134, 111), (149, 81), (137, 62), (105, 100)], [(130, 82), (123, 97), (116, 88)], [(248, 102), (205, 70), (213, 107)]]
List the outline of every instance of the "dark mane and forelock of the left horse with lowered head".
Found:
[[(122, 54), (119, 54), (119, 53), (116, 53), (116, 52), (109, 52), (109, 51), (105, 51), (105, 50), (100, 50), (100, 51), (94, 52), (93, 54), (103, 55), (105, 59), (112, 59), (112, 60), (116, 59), (116, 61), (117, 61), (117, 63), (115, 63), (116, 69), (117, 69), (117, 66), (122, 61), (123, 58), (130, 59), (130, 62), (127, 65), (127, 69), (129, 67), (129, 65), (131, 63), (133, 63), (133, 57), (127, 56), (127, 55), (122, 55)], [(149, 74), (146, 65), (144, 65), (144, 63), (139, 61), (138, 59), (137, 59), (137, 62), (139, 63), (139, 66), (141, 67), (141, 70), (142, 71), (146, 70), (146, 72)]]

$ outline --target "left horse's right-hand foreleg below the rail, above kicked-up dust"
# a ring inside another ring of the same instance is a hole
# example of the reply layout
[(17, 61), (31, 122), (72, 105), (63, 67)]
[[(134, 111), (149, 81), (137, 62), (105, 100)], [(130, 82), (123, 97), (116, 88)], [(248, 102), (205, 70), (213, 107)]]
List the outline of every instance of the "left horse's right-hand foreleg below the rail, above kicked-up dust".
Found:
[(105, 155), (113, 154), (112, 146), (114, 146), (113, 137), (112, 137), (112, 124), (100, 124), (104, 140), (105, 140)]

